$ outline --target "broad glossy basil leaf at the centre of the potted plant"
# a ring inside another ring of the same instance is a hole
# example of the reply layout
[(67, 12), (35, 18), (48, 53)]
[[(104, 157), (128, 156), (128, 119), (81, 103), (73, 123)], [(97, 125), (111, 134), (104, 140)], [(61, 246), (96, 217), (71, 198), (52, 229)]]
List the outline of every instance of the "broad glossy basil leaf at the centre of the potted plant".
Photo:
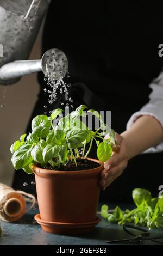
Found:
[(71, 130), (67, 132), (66, 139), (69, 144), (80, 144), (85, 141), (88, 134), (88, 131)]

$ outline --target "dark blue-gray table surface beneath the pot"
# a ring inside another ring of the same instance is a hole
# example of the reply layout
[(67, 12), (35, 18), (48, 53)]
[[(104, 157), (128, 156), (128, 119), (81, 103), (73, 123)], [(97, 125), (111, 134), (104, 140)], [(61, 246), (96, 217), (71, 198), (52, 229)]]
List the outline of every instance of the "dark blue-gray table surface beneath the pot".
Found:
[[(114, 209), (116, 205), (117, 204), (109, 204), (110, 209)], [(128, 204), (118, 205), (121, 206), (122, 210), (133, 208)], [(100, 206), (101, 204), (99, 205), (99, 209)], [(0, 236), (0, 245), (108, 245), (106, 241), (126, 239), (129, 237), (129, 235), (123, 231), (122, 226), (115, 223), (108, 223), (103, 219), (93, 228), (93, 231), (88, 234), (60, 235), (47, 233), (43, 231), (41, 226), (34, 220), (34, 216), (38, 212), (39, 210), (37, 208), (30, 210), (21, 220), (15, 223), (1, 221), (3, 233), (2, 236)], [(151, 235), (163, 235), (163, 230), (153, 229), (151, 230)], [(161, 241), (163, 241), (163, 239)], [(141, 244), (156, 245), (155, 242), (150, 240), (144, 240)]]

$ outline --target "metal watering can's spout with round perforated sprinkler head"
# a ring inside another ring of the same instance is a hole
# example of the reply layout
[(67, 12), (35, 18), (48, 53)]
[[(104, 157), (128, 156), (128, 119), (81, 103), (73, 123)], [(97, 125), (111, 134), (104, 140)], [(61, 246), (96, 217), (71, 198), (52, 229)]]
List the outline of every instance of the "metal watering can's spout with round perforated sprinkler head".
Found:
[(46, 51), (41, 60), (18, 60), (0, 68), (0, 84), (12, 84), (21, 76), (42, 71), (52, 80), (58, 80), (68, 71), (68, 60), (59, 49)]

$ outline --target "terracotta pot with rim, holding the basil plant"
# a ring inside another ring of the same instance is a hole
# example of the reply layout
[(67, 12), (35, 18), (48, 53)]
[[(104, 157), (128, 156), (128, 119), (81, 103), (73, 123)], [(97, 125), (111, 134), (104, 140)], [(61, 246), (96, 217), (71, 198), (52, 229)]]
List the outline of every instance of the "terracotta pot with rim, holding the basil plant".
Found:
[[(48, 226), (47, 223), (52, 222), (57, 225), (58, 223), (74, 224), (77, 227), (80, 224), (82, 227), (82, 225), (99, 222), (96, 217), (100, 191), (98, 182), (99, 174), (104, 167), (102, 162), (96, 159), (90, 160), (101, 165), (94, 169), (80, 171), (58, 171), (33, 167), (40, 210), (40, 216), (37, 215), (36, 220), (40, 221), (40, 224), (45, 222), (46, 225), (42, 226), (44, 230), (60, 233), (61, 230), (56, 230), (56, 227), (53, 227), (53, 230), (49, 230), (49, 227), (45, 228)], [(61, 232), (67, 233), (67, 231)], [(81, 229), (73, 233), (83, 232)]]

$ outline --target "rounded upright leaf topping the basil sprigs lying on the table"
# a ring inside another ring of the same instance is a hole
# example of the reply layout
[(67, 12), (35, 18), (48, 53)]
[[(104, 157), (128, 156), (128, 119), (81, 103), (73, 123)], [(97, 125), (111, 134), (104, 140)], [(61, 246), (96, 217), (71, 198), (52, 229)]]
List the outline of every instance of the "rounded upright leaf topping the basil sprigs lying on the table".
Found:
[(143, 188), (135, 188), (133, 190), (133, 200), (136, 206), (140, 206), (145, 201), (150, 205), (151, 193)]

